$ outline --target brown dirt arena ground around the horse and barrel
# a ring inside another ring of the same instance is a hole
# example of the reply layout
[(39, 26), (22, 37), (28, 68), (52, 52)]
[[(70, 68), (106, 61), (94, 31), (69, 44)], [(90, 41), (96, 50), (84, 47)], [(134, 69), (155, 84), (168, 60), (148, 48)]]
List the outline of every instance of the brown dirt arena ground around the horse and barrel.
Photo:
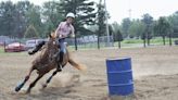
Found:
[(0, 54), (0, 100), (110, 100), (105, 60), (118, 57), (131, 58), (135, 93), (115, 100), (178, 100), (178, 47), (82, 50), (72, 55), (87, 66), (87, 72), (67, 65), (46, 89), (41, 84), (52, 72), (37, 83), (30, 95), (25, 95), (36, 72), (22, 91), (15, 92), (14, 88), (35, 55)]

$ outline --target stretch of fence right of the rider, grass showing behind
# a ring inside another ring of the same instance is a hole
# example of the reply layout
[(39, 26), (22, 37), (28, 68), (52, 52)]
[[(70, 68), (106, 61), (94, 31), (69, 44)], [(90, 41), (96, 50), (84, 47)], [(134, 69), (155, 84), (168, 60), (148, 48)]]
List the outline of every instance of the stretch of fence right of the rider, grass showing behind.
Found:
[[(74, 39), (73, 39), (74, 41)], [(144, 41), (142, 39), (138, 38), (130, 38), (130, 39), (124, 39), (123, 41), (114, 41), (113, 37), (110, 36), (110, 45), (107, 45), (107, 37), (103, 36), (99, 38), (100, 41), (100, 48), (143, 48)], [(169, 38), (165, 39), (165, 46), (176, 46), (178, 41), (178, 38)], [(93, 41), (89, 40), (81, 40), (80, 38), (77, 39), (78, 49), (97, 49), (98, 48), (98, 39), (94, 39)], [(74, 48), (74, 42), (69, 43)], [(109, 47), (110, 46), (110, 47)], [(154, 37), (150, 40), (150, 45), (145, 42), (147, 47), (157, 47), (157, 46), (164, 46), (163, 38), (162, 37)]]

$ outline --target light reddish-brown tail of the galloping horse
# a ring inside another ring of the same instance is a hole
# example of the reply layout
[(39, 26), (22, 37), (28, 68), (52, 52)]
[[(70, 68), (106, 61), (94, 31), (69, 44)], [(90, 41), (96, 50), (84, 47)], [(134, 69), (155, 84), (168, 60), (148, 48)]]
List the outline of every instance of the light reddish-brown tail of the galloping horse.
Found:
[(79, 71), (86, 72), (86, 70), (87, 70), (87, 67), (85, 65), (75, 62), (73, 59), (69, 59), (68, 62), (71, 65), (73, 65), (74, 67), (76, 67)]

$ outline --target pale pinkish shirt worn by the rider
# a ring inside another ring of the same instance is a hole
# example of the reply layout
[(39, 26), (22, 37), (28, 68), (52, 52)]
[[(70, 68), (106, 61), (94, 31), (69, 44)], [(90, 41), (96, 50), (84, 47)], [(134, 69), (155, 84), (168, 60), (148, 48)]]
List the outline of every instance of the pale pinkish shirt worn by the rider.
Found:
[(67, 24), (66, 22), (61, 22), (58, 29), (56, 35), (62, 37), (67, 37), (69, 34), (74, 34), (74, 27), (72, 24)]

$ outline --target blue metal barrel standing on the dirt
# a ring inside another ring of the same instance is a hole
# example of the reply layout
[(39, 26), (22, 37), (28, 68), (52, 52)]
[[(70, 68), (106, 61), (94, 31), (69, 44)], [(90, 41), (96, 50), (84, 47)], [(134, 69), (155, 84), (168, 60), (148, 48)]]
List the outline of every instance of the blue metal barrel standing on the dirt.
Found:
[(127, 96), (134, 93), (134, 79), (130, 58), (106, 60), (110, 95)]

